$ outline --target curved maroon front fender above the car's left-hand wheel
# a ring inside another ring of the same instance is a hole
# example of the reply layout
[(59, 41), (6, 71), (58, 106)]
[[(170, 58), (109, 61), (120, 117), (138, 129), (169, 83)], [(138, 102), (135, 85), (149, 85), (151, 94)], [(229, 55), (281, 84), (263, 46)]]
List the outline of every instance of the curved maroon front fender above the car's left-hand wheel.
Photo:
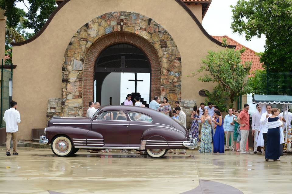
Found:
[(48, 143), (51, 143), (52, 139), (57, 135), (66, 135), (71, 141), (72, 139), (86, 139), (87, 129), (80, 129), (77, 127), (68, 127), (68, 126), (56, 126), (56, 127), (47, 127), (46, 136), (49, 140)]

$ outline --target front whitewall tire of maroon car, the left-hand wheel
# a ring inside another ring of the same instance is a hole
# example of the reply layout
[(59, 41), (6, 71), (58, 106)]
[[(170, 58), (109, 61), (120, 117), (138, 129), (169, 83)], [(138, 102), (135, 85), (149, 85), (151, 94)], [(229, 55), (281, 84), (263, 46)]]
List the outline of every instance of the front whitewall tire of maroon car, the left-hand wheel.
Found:
[(66, 136), (57, 136), (51, 143), (51, 149), (56, 156), (69, 156), (73, 146), (70, 139)]

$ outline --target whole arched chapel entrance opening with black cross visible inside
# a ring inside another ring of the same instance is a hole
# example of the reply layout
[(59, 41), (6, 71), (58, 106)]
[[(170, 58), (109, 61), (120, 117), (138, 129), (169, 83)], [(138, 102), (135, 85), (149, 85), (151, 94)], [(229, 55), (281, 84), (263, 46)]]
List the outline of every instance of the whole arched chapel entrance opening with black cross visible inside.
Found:
[(119, 105), (128, 93), (132, 100), (140, 96), (145, 104), (151, 99), (151, 64), (141, 49), (129, 43), (110, 45), (100, 53), (94, 80), (94, 101), (101, 105)]

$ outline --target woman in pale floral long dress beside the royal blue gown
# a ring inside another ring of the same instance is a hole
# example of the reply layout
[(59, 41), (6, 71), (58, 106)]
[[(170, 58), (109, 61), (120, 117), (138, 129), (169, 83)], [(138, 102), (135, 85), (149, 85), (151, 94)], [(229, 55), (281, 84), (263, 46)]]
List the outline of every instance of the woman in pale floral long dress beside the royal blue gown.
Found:
[(208, 110), (203, 109), (203, 115), (201, 116), (202, 130), (201, 130), (201, 144), (199, 152), (212, 152), (211, 141), (211, 117), (208, 115)]

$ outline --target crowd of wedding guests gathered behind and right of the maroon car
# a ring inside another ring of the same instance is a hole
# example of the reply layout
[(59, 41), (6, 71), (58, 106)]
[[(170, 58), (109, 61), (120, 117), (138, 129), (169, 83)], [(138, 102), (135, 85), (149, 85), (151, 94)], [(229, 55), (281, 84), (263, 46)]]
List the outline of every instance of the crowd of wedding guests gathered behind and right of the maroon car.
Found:
[[(131, 94), (128, 94), (123, 105), (132, 105)], [(134, 98), (134, 106), (145, 107), (140, 102), (140, 97)], [(87, 110), (87, 117), (91, 117), (96, 109), (99, 108), (99, 102), (90, 102)], [(203, 102), (199, 106), (194, 106), (191, 113), (192, 123), (189, 133), (194, 139), (200, 142), (199, 152), (224, 153), (224, 151), (236, 151), (241, 154), (249, 152), (249, 105), (245, 104), (243, 110), (229, 109), (228, 115), (223, 116), (218, 106), (208, 102), (205, 105)], [(172, 109), (168, 103), (168, 99), (164, 97), (160, 102), (160, 97), (155, 96), (149, 104), (150, 109), (157, 110), (162, 114), (172, 116), (182, 126), (186, 128), (186, 114), (180, 107), (179, 101), (175, 102), (175, 107)], [(266, 105), (266, 112), (262, 113), (261, 107), (256, 105), (257, 111), (252, 114), (252, 136), (254, 136), (254, 153), (262, 152), (262, 147), (265, 151), (265, 159), (273, 159), (280, 161), (280, 155), (283, 155), (283, 112), (273, 108), (271, 105)], [(288, 129), (292, 120), (292, 113), (288, 113)], [(225, 136), (225, 137), (224, 137)], [(108, 150), (104, 151), (108, 152)], [(121, 150), (127, 153), (127, 150)], [(291, 152), (291, 143), (287, 144), (287, 152)], [(177, 152), (177, 150), (169, 150), (169, 153), (186, 154), (185, 150)]]

